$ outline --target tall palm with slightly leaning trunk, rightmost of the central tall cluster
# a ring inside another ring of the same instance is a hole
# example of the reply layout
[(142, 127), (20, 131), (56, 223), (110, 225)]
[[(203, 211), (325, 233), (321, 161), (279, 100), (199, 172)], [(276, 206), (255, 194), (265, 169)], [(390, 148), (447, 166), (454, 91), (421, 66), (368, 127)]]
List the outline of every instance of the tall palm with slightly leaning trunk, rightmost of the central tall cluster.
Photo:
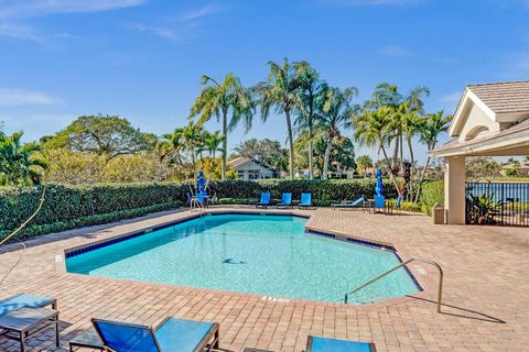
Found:
[(352, 105), (352, 99), (358, 95), (356, 88), (327, 88), (325, 102), (322, 106), (317, 123), (326, 131), (327, 147), (323, 164), (323, 178), (327, 178), (328, 160), (333, 148), (334, 140), (341, 136), (342, 129), (349, 129), (353, 125), (352, 117), (358, 110), (358, 106)]

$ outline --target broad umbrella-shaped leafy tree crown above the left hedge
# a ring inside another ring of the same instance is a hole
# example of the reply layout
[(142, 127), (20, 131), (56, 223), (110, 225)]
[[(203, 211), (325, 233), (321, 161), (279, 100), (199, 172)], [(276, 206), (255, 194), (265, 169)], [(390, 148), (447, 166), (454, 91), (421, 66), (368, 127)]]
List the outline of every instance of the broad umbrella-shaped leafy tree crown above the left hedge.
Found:
[(111, 160), (118, 155), (151, 151), (156, 142), (153, 134), (140, 132), (127, 119), (99, 114), (77, 118), (55, 136), (46, 139), (44, 145), (96, 153)]

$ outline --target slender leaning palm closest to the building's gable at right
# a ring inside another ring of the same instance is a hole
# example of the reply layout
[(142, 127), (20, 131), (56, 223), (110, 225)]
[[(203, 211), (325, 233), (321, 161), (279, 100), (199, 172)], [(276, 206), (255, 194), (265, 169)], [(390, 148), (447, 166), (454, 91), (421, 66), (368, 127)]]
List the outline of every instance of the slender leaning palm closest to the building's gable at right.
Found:
[[(447, 132), (450, 128), (450, 122), (452, 121), (452, 116), (444, 117), (444, 111), (441, 110), (438, 113), (427, 114), (424, 117), (424, 123), (420, 131), (421, 142), (423, 142), (429, 151), (432, 151), (438, 144), (439, 135), (441, 133)], [(421, 178), (419, 179), (419, 186), (415, 194), (414, 204), (419, 201), (419, 196), (421, 193), (421, 185), (427, 175), (428, 166), (430, 165), (431, 155), (428, 154), (427, 164), (422, 170)]]

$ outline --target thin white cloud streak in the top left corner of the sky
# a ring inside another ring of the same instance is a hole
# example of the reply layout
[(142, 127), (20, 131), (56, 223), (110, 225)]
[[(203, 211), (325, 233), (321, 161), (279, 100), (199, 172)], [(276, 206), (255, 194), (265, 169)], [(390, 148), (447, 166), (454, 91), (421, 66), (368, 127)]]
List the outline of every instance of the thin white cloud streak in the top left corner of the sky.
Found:
[(0, 18), (26, 19), (57, 13), (100, 12), (145, 2), (147, 0), (0, 0)]

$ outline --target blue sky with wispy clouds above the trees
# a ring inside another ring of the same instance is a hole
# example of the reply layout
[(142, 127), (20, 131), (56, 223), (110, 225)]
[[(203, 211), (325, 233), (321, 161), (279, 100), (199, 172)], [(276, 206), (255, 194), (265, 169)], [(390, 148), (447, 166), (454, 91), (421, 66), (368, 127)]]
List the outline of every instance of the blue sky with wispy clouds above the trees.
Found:
[[(529, 0), (0, 0), (0, 121), (26, 140), (99, 112), (164, 133), (185, 123), (201, 75), (252, 85), (284, 56), (358, 102), (390, 81), (453, 112), (467, 84), (529, 78), (528, 18)], [(229, 144), (284, 142), (284, 125), (256, 118)]]

